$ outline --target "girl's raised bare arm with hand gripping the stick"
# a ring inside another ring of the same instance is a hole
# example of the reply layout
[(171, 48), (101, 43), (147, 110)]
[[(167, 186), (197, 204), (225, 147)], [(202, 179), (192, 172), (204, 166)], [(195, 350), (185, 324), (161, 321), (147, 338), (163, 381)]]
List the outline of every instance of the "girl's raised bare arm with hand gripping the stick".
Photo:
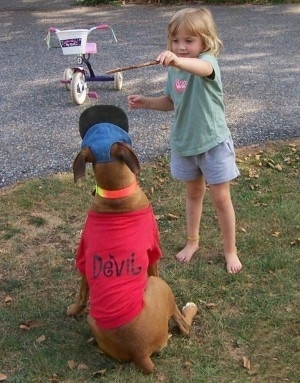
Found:
[(199, 58), (178, 57), (171, 51), (162, 52), (156, 60), (164, 66), (173, 66), (201, 77), (209, 77), (214, 70), (208, 61)]

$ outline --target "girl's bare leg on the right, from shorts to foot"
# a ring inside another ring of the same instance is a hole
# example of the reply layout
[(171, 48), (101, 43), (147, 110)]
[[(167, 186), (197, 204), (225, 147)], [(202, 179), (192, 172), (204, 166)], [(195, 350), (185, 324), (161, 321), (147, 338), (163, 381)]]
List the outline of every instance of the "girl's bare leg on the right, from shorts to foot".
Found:
[(210, 195), (216, 209), (223, 237), (224, 255), (228, 273), (235, 274), (242, 269), (235, 243), (235, 212), (230, 196), (230, 183), (209, 185)]

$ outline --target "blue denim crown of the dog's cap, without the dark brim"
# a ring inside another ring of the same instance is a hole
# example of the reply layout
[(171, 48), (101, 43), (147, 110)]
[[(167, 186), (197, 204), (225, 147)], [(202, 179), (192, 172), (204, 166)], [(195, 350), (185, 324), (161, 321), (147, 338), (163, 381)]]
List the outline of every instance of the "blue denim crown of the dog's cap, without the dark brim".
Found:
[(90, 147), (95, 157), (95, 162), (110, 162), (110, 149), (116, 142), (131, 145), (128, 133), (117, 125), (101, 122), (90, 127), (82, 140), (81, 148)]

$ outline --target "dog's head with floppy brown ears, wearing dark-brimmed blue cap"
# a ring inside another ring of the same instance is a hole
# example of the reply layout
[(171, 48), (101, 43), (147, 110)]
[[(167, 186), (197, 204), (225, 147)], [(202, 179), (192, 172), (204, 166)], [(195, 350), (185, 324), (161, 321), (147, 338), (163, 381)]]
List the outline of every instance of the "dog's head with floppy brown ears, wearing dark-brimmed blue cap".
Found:
[(138, 174), (140, 164), (131, 148), (126, 113), (113, 105), (96, 105), (79, 118), (81, 151), (73, 162), (74, 181), (85, 176), (86, 163), (124, 162)]

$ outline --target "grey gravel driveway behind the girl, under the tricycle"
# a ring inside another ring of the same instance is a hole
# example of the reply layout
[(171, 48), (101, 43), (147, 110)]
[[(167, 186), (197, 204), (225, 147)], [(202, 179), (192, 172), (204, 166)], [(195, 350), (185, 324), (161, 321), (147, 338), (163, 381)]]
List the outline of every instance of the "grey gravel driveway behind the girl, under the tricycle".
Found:
[[(46, 3), (46, 4), (45, 4)], [(50, 26), (113, 27), (96, 32), (96, 74), (152, 60), (166, 46), (166, 25), (179, 6), (73, 7), (72, 0), (0, 2), (0, 188), (17, 181), (70, 171), (80, 148), (78, 118), (88, 106), (115, 104), (128, 112), (135, 150), (142, 162), (168, 152), (172, 113), (128, 111), (132, 93), (161, 94), (161, 66), (124, 72), (122, 91), (93, 83), (98, 99), (81, 106), (60, 84), (74, 56), (47, 50)], [(220, 58), (228, 125), (237, 147), (299, 136), (300, 5), (212, 6), (225, 49)], [(55, 37), (55, 36), (54, 36)], [(58, 41), (53, 39), (58, 46)]]

